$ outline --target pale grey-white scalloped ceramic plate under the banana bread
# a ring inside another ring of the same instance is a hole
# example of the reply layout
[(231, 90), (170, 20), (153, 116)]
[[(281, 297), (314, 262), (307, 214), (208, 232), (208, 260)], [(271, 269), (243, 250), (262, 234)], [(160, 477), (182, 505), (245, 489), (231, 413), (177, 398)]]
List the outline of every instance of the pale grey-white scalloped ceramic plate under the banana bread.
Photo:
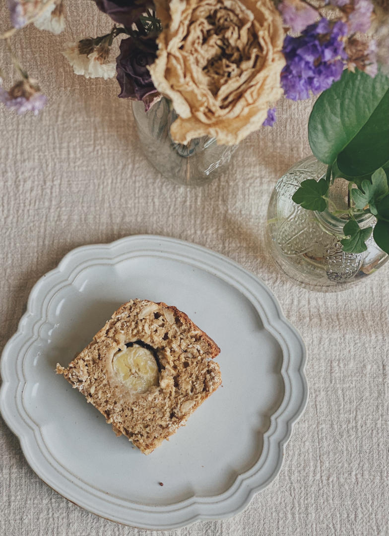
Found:
[[(54, 371), (134, 297), (177, 306), (221, 348), (223, 386), (149, 456)], [(119, 523), (167, 530), (233, 516), (275, 478), (308, 398), (304, 362), (301, 337), (251, 273), (195, 244), (130, 236), (74, 249), (36, 283), (4, 348), (0, 408), (58, 493)]]

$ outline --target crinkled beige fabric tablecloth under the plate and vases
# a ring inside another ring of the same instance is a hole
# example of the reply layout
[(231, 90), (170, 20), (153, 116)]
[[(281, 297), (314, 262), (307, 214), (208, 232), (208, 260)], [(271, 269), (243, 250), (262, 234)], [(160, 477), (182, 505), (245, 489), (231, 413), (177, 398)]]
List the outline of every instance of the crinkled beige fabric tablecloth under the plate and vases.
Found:
[[(35, 281), (78, 245), (155, 233), (219, 251), (263, 279), (302, 333), (310, 400), (279, 477), (244, 512), (166, 534), (389, 534), (389, 264), (349, 291), (310, 293), (275, 269), (264, 244), (276, 178), (309, 154), (312, 101), (283, 101), (274, 129), (246, 139), (218, 180), (178, 187), (143, 158), (130, 104), (116, 98), (116, 82), (72, 75), (62, 43), (99, 34), (109, 21), (93, 2), (66, 4), (65, 34), (27, 28), (13, 39), (50, 106), (36, 118), (0, 109), (1, 346), (16, 331)], [(5, 29), (5, 0), (0, 9)], [(4, 43), (0, 64), (9, 64)], [(0, 534), (152, 533), (108, 522), (59, 496), (29, 468), (0, 419)]]

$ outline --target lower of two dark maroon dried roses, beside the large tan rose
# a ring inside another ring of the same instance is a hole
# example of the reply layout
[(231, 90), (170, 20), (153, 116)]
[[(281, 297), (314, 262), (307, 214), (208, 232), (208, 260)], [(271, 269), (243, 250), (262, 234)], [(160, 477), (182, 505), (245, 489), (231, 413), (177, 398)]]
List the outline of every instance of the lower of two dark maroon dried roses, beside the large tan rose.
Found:
[(138, 39), (123, 39), (116, 58), (117, 81), (122, 90), (119, 97), (141, 100), (146, 110), (158, 95), (147, 69), (156, 57), (158, 47), (155, 37), (149, 34)]

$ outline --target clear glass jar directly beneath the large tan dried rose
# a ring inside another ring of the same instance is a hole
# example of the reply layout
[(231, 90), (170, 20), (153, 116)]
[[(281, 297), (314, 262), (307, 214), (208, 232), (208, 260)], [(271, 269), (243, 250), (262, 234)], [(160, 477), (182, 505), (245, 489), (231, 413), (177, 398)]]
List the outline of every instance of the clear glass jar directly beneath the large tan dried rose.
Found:
[(141, 101), (132, 102), (138, 136), (152, 165), (177, 184), (201, 186), (219, 176), (228, 165), (237, 145), (218, 145), (215, 138), (204, 136), (188, 145), (175, 143), (170, 137), (174, 109), (162, 98), (148, 111)]

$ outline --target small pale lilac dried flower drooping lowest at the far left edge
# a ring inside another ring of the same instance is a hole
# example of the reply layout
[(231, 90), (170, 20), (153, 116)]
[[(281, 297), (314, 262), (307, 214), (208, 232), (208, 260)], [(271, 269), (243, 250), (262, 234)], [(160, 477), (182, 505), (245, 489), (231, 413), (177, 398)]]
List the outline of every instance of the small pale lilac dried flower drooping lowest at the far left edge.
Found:
[(32, 111), (37, 115), (47, 104), (47, 97), (38, 91), (28, 80), (21, 80), (9, 91), (0, 86), (0, 102), (17, 114)]

